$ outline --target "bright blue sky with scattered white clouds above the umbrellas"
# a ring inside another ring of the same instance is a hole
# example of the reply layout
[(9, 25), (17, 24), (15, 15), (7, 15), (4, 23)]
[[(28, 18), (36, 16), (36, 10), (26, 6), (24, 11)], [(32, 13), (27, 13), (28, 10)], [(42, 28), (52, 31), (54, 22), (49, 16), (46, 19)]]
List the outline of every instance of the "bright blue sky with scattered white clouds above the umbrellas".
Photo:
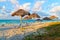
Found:
[(55, 15), (60, 18), (60, 0), (0, 0), (0, 19), (19, 19), (11, 16), (18, 9), (36, 12), (41, 17)]

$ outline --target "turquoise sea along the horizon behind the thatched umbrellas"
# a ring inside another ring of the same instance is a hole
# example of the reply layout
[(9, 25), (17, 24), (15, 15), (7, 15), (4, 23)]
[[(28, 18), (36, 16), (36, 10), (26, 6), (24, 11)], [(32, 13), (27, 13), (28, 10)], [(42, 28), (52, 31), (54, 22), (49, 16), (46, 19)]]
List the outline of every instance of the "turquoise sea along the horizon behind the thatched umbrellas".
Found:
[[(39, 22), (55, 22), (60, 20), (42, 20)], [(22, 20), (23, 23), (33, 23), (36, 20)], [(0, 24), (20, 24), (20, 20), (0, 20)]]

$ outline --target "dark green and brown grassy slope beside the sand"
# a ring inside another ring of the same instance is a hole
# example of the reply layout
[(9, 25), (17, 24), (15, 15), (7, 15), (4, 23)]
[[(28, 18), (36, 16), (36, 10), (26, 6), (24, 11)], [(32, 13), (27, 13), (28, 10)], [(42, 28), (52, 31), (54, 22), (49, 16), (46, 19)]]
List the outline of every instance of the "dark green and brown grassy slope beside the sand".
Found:
[(24, 40), (55, 40), (60, 38), (60, 24), (54, 24), (45, 28), (41, 28), (45, 30), (46, 33), (40, 33), (40, 29), (36, 31), (36, 33), (32, 33), (27, 35)]

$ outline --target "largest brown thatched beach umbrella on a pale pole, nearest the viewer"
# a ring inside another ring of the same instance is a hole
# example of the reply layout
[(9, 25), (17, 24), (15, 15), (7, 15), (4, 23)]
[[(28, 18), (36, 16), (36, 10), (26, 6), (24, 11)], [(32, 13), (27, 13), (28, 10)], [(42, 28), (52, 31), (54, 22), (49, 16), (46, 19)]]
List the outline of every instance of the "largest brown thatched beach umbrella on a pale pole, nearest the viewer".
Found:
[(12, 13), (12, 16), (19, 16), (21, 19), (21, 23), (22, 23), (22, 17), (24, 17), (25, 15), (30, 15), (30, 13), (28, 11), (25, 11), (23, 9), (19, 9), (16, 12)]

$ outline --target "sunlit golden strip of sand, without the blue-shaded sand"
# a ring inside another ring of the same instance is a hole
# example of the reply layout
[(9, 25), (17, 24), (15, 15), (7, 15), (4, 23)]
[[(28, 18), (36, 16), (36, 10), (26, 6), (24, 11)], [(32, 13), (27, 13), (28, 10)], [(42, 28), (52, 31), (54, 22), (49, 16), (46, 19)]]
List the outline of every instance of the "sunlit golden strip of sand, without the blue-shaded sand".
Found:
[(58, 23), (57, 22), (46, 22), (46, 23), (36, 22), (30, 26), (26, 26), (22, 28), (5, 29), (3, 31), (0, 31), (0, 37), (4, 36), (5, 38), (9, 39), (10, 37), (13, 37), (15, 35), (22, 35), (21, 37), (23, 38), (24, 36), (32, 32), (35, 32), (39, 28), (47, 27), (53, 24), (60, 24), (60, 22)]

